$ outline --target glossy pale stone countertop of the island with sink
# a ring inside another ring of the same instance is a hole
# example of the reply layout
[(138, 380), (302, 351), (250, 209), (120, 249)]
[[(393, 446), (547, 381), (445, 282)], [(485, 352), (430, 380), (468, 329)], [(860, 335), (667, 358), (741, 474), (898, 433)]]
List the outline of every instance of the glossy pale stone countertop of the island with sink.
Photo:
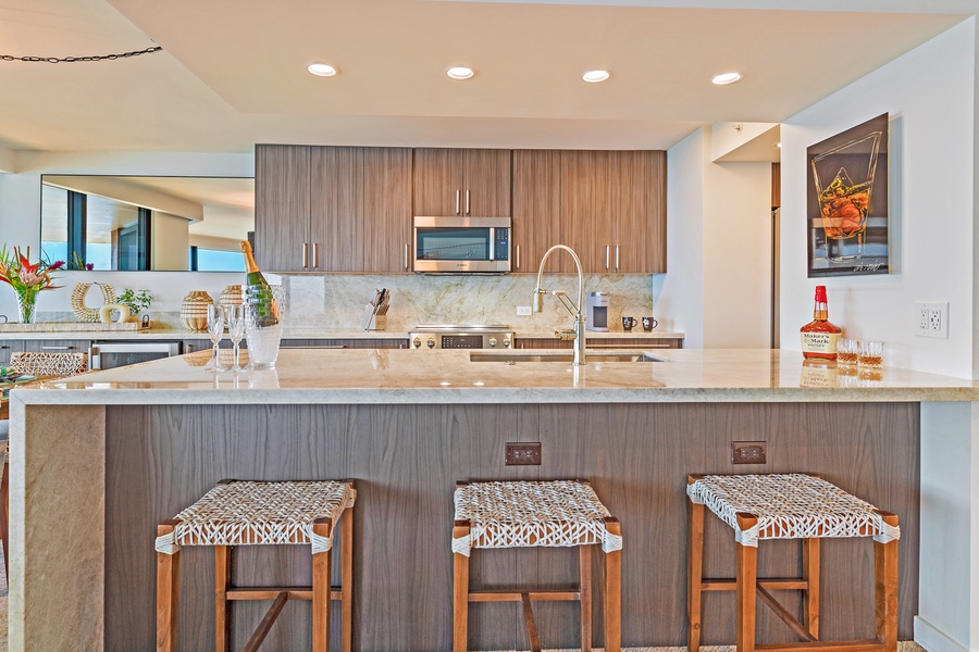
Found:
[[(524, 353), (528, 350), (523, 350)], [(507, 354), (509, 352), (495, 352)], [(560, 351), (537, 351), (542, 355)], [(15, 389), (21, 404), (976, 401), (979, 384), (884, 367), (862, 379), (794, 351), (654, 349), (660, 362), (472, 362), (469, 350), (283, 349), (274, 369), (214, 374), (209, 351)]]

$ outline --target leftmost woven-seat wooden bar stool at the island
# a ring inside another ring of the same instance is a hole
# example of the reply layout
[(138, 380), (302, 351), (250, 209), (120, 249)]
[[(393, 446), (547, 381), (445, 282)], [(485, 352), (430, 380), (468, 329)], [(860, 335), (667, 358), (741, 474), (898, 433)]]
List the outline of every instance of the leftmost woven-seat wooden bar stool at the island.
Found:
[[(157, 528), (157, 651), (174, 652), (177, 635), (177, 576), (182, 546), (214, 548), (214, 649), (228, 649), (228, 602), (272, 600), (272, 606), (245, 645), (261, 645), (288, 600), (312, 601), (312, 650), (330, 648), (330, 601), (340, 602), (343, 652), (350, 652), (354, 624), (352, 480), (222, 480), (199, 501)], [(340, 524), (340, 586), (330, 586), (334, 531)], [(311, 587), (235, 587), (231, 552), (235, 546), (308, 544)]]

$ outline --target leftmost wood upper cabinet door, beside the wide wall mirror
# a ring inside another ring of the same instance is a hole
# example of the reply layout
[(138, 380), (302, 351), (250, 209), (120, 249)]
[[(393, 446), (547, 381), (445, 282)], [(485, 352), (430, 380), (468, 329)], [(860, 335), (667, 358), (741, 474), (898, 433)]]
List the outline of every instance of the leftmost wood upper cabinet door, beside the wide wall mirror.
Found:
[(309, 268), (309, 158), (308, 147), (255, 148), (255, 258), (269, 272)]

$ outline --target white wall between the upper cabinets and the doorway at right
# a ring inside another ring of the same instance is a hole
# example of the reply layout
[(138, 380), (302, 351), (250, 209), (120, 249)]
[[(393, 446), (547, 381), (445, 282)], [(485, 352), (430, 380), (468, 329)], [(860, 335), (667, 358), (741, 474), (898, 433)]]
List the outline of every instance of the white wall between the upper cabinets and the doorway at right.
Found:
[(698, 129), (670, 148), (668, 273), (660, 325), (684, 347), (767, 349), (771, 317), (771, 163), (712, 163)]

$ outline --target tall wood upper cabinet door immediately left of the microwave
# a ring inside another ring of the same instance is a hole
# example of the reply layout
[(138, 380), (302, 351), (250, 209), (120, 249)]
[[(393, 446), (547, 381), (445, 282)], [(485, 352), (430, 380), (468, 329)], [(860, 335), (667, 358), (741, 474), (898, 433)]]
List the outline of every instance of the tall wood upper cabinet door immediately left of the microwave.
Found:
[(363, 271), (408, 272), (411, 150), (363, 150)]

